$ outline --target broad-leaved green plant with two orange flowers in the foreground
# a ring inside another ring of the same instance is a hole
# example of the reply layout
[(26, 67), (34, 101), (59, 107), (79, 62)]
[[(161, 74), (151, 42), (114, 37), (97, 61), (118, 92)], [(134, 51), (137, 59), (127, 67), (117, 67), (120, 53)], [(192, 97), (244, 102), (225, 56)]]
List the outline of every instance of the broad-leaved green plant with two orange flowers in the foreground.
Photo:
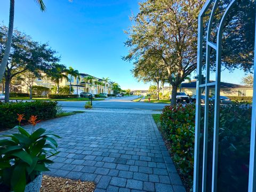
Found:
[(34, 131), (39, 122), (36, 116), (29, 119), (33, 125), (29, 134), (20, 126), (23, 116), (18, 114), (19, 125), (14, 127), (19, 133), (3, 135), (4, 139), (0, 140), (0, 188), (2, 186), (14, 192), (25, 191), (27, 183), (37, 175), (50, 171), (46, 165), (53, 161), (49, 158), (59, 153), (54, 138), (60, 137), (42, 128)]

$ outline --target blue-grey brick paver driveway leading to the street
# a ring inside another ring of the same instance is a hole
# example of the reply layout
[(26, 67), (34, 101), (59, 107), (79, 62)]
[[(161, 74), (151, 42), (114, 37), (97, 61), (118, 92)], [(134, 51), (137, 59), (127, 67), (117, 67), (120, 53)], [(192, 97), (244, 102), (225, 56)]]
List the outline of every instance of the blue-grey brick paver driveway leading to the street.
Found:
[(95, 191), (185, 191), (151, 115), (86, 112), (37, 126), (62, 137), (45, 174), (94, 181)]

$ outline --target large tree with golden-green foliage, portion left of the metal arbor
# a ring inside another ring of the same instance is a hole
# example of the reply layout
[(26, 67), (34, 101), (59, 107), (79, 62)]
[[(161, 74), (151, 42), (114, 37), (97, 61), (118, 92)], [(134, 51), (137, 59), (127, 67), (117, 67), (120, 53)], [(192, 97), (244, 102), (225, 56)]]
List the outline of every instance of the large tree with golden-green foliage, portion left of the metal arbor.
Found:
[[(134, 63), (155, 57), (164, 62), (172, 85), (172, 102), (176, 103), (179, 84), (196, 68), (197, 17), (204, 1), (148, 0), (132, 17), (133, 26), (125, 45), (130, 48), (124, 58)], [(175, 81), (173, 81), (175, 79)]]

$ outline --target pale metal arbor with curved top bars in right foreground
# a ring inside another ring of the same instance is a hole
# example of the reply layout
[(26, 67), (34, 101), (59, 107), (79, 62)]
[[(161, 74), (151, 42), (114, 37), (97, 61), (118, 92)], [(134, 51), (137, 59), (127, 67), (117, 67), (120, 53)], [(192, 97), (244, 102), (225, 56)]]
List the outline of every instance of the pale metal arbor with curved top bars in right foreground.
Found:
[[(218, 143), (219, 143), (219, 110), (220, 110), (220, 75), (221, 75), (221, 41), (222, 33), (228, 14), (232, 10), (237, 0), (230, 1), (227, 9), (222, 15), (217, 33), (217, 43), (211, 42), (212, 24), (215, 11), (220, 0), (207, 0), (198, 16), (198, 48), (197, 48), (197, 90), (196, 90), (196, 130), (195, 130), (195, 162), (194, 162), (194, 185), (193, 191), (206, 191), (206, 166), (207, 166), (207, 140), (208, 140), (208, 111), (209, 111), (209, 87), (215, 86), (214, 100), (214, 130), (213, 130), (213, 159), (212, 159), (212, 186), (211, 191), (217, 191), (217, 169), (218, 169)], [(206, 33), (206, 73), (205, 81), (202, 76), (203, 60), (203, 17), (210, 5), (211, 15), (208, 22)], [(255, 41), (256, 42), (256, 41)], [(255, 45), (254, 45), (255, 47)], [(210, 82), (210, 49), (216, 51), (216, 75), (215, 82)], [(254, 48), (255, 53), (255, 48)], [(254, 79), (256, 79), (256, 55), (254, 54)], [(256, 81), (253, 84), (253, 105), (251, 122), (251, 146), (250, 146), (250, 167), (249, 167), (249, 192), (256, 191)], [(203, 169), (199, 175), (199, 139), (200, 139), (200, 120), (201, 120), (201, 92), (205, 90), (205, 113), (204, 113), (204, 141), (203, 141)], [(202, 186), (199, 180), (202, 179)]]

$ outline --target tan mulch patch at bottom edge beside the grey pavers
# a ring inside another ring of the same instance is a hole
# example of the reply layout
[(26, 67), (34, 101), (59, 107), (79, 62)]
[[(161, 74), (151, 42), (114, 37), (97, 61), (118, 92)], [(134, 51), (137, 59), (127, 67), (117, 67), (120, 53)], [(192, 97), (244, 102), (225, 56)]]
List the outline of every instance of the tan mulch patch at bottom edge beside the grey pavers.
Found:
[(43, 176), (40, 192), (93, 192), (94, 182)]

